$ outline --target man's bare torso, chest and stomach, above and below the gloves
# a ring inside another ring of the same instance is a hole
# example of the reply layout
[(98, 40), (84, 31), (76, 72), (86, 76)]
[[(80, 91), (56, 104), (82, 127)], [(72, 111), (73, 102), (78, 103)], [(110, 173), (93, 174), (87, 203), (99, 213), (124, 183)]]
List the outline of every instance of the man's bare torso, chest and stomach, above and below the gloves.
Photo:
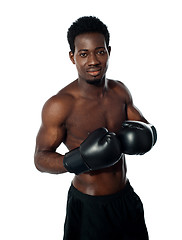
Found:
[[(70, 94), (71, 111), (65, 120), (65, 145), (69, 150), (78, 147), (97, 128), (106, 127), (117, 133), (126, 120), (126, 93), (120, 83), (109, 80), (108, 88), (100, 98), (79, 94), (77, 81), (58, 95)], [(112, 167), (76, 175), (73, 185), (89, 195), (107, 195), (118, 192), (126, 183), (125, 157)]]

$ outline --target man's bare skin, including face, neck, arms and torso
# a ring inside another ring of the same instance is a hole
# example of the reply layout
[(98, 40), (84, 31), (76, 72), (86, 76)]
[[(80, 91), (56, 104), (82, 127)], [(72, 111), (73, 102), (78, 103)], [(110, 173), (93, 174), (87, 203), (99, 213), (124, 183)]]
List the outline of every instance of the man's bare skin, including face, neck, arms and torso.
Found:
[[(35, 150), (35, 165), (41, 172), (67, 172), (64, 155), (56, 152), (61, 143), (71, 150), (97, 128), (106, 127), (117, 134), (125, 120), (148, 123), (134, 106), (126, 86), (106, 78), (110, 52), (100, 33), (75, 38), (75, 52), (70, 52), (70, 59), (76, 65), (78, 79), (50, 98), (42, 110)], [(107, 195), (120, 191), (126, 181), (123, 155), (112, 167), (75, 175), (73, 185), (89, 195)]]

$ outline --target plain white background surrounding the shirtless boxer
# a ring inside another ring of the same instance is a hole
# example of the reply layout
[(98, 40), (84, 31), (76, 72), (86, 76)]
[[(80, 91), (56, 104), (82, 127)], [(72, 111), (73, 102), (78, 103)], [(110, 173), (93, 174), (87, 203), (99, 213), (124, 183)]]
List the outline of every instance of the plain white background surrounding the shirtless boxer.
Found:
[(33, 155), (44, 102), (77, 78), (66, 33), (84, 15), (108, 26), (107, 77), (128, 86), (135, 105), (158, 130), (151, 152), (127, 157), (150, 239), (182, 239), (180, 2), (1, 0), (0, 239), (62, 239), (73, 175), (42, 174)]

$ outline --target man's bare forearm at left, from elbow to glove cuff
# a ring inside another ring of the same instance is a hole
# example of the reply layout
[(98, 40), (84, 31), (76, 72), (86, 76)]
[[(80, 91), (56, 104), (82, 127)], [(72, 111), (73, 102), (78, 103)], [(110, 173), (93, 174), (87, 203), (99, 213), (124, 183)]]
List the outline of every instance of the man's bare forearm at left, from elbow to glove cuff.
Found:
[(34, 162), (36, 168), (41, 172), (52, 174), (65, 173), (67, 170), (63, 166), (64, 155), (50, 151), (37, 151)]

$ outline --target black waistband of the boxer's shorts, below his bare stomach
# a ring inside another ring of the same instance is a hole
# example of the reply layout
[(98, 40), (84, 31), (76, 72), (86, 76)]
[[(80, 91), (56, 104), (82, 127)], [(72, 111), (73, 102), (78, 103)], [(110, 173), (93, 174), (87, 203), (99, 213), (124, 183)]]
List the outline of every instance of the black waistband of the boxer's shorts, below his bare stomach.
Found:
[(99, 201), (99, 202), (107, 202), (110, 200), (114, 200), (117, 198), (121, 198), (124, 196), (126, 193), (133, 191), (133, 188), (130, 185), (129, 180), (126, 182), (126, 185), (124, 186), (123, 189), (121, 189), (119, 192), (116, 192), (114, 194), (109, 194), (109, 195), (102, 195), (102, 196), (93, 196), (93, 195), (88, 195), (85, 193), (80, 192), (78, 189), (76, 189), (73, 184), (71, 184), (70, 189), (69, 189), (69, 194), (72, 196), (79, 198), (81, 200), (85, 201)]

